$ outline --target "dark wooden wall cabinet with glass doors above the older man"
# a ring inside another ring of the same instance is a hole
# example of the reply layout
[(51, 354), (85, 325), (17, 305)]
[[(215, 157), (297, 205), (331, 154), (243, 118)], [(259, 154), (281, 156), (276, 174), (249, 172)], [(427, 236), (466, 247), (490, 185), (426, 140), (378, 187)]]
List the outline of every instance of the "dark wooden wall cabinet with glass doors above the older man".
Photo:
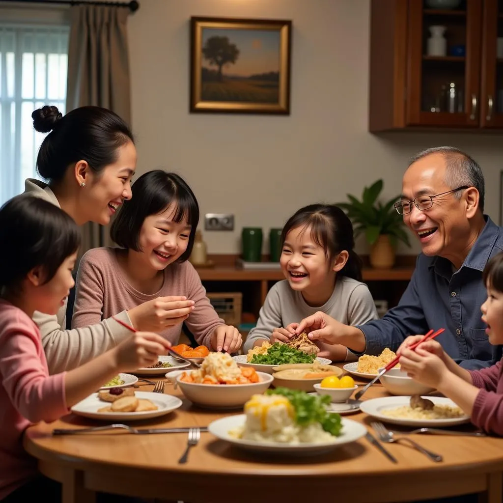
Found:
[[(429, 53), (432, 26), (445, 28), (445, 55)], [(498, 37), (502, 0), (462, 0), (451, 10), (372, 0), (369, 130), (503, 128)]]

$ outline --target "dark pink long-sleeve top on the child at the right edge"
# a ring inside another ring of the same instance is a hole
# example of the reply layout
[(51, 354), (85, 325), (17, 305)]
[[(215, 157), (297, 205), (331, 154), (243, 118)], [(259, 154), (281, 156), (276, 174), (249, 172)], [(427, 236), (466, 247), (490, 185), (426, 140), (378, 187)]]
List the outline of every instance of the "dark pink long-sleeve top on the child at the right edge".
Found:
[(492, 367), (471, 370), (472, 384), (480, 388), (471, 422), (487, 433), (503, 436), (503, 359)]

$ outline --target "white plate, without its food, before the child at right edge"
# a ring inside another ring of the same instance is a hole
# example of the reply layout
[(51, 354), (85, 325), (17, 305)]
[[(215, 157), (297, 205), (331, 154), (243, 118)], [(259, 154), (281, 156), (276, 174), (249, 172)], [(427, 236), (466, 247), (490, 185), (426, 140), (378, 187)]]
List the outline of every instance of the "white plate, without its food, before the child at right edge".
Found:
[[(443, 396), (430, 396), (426, 398), (431, 400), (435, 405), (450, 405), (457, 407), (457, 405), (450, 399)], [(383, 422), (392, 423), (393, 425), (413, 426), (413, 427), (427, 427), (442, 428), (444, 426), (460, 425), (468, 423), (470, 418), (467, 415), (461, 417), (453, 417), (450, 419), (407, 419), (405, 417), (389, 417), (382, 413), (383, 410), (394, 409), (403, 405), (410, 404), (410, 396), (386, 396), (383, 398), (371, 398), (370, 400), (362, 401), (360, 410), (366, 414), (376, 417)]]

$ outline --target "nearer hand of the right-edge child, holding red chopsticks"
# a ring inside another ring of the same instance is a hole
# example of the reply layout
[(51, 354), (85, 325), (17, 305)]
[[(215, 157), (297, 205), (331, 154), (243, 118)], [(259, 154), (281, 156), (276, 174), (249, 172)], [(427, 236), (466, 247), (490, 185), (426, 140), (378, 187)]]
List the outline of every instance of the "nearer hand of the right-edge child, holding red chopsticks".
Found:
[[(440, 349), (442, 350), (442, 347)], [(400, 367), (409, 377), (432, 388), (438, 388), (442, 380), (450, 373), (445, 362), (437, 354), (424, 349), (423, 344), (417, 346), (415, 350), (403, 349)]]

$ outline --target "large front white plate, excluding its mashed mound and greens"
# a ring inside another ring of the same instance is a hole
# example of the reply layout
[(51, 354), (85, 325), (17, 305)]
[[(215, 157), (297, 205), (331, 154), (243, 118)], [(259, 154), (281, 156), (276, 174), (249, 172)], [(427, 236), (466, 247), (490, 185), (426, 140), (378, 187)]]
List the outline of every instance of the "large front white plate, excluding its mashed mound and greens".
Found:
[(244, 425), (246, 416), (244, 414), (231, 415), (222, 417), (213, 421), (208, 426), (208, 431), (221, 440), (225, 440), (249, 451), (262, 451), (269, 453), (282, 453), (290, 454), (320, 454), (323, 452), (336, 449), (344, 444), (355, 442), (367, 434), (367, 429), (356, 421), (341, 418), (342, 421), (342, 434), (339, 437), (333, 437), (331, 442), (324, 442), (322, 444), (280, 444), (276, 442), (255, 442), (252, 440), (236, 439), (229, 435), (229, 431)]

